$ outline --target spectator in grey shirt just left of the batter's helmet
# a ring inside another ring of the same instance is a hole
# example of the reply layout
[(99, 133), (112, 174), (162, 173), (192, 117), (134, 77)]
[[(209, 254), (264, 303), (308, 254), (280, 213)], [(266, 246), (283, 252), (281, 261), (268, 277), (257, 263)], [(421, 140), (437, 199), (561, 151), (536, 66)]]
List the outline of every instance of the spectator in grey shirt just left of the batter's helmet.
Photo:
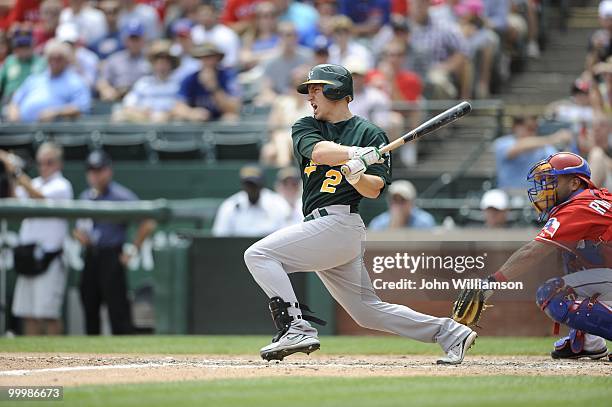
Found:
[(295, 27), (291, 23), (280, 23), (278, 33), (281, 43), (276, 55), (264, 63), (264, 77), (258, 102), (271, 104), (277, 95), (295, 92), (292, 87), (291, 73), (301, 65), (312, 63), (310, 50), (297, 43)]

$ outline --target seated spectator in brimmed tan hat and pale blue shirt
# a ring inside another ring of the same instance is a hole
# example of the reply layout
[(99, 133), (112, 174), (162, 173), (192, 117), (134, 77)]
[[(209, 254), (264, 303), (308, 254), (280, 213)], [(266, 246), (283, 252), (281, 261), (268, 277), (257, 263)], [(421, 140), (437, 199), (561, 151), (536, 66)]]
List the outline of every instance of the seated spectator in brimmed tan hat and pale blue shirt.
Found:
[(136, 81), (123, 98), (121, 110), (113, 113), (113, 121), (163, 123), (170, 120), (179, 91), (179, 82), (172, 76), (179, 59), (170, 51), (170, 42), (157, 40), (149, 49), (153, 75)]

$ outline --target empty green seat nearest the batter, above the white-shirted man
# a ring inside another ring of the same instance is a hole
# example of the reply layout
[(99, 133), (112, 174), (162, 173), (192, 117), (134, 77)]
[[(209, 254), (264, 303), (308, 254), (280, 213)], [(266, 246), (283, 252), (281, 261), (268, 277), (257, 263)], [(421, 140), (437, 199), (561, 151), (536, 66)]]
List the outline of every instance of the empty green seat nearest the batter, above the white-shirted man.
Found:
[(218, 124), (207, 131), (205, 141), (212, 144), (214, 159), (257, 161), (266, 135), (262, 123)]

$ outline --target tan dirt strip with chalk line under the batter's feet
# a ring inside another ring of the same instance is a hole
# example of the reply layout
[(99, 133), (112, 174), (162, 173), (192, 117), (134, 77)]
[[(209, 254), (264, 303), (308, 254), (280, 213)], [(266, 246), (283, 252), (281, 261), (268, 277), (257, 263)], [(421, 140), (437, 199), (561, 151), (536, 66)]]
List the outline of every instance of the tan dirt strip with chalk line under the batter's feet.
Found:
[(257, 355), (0, 353), (0, 385), (78, 386), (270, 376), (612, 376), (612, 363), (603, 361), (469, 355), (459, 366), (438, 366), (435, 361), (435, 356), (313, 354), (266, 362)]

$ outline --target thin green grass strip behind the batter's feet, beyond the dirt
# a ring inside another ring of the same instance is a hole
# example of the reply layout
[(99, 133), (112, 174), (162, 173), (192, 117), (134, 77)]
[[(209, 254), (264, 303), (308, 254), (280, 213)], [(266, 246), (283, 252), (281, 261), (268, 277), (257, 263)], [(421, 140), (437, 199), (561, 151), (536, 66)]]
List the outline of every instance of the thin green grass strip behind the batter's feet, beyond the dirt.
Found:
[[(0, 352), (255, 354), (268, 336), (66, 336), (0, 339)], [(473, 355), (545, 355), (553, 338), (481, 337)], [(323, 336), (321, 354), (437, 355), (435, 344), (392, 336)]]

